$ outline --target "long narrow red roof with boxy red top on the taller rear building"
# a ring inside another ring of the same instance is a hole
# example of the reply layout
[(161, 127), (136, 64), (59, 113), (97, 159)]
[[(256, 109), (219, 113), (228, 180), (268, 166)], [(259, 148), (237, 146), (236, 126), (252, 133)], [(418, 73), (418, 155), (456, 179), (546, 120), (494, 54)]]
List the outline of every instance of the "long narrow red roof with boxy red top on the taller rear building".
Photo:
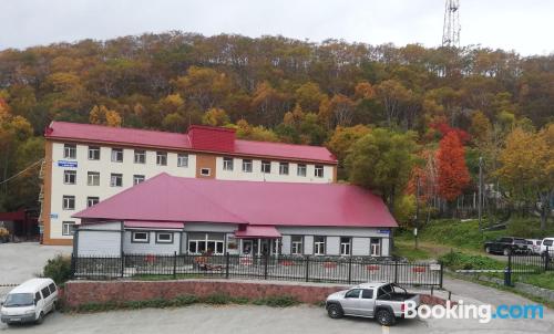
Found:
[[(191, 143), (192, 138), (194, 145)], [(49, 139), (110, 143), (177, 150), (220, 152), (242, 156), (273, 157), (337, 164), (335, 156), (320, 146), (293, 145), (235, 139), (232, 129), (192, 126), (189, 134), (93, 124), (52, 122), (44, 133)]]

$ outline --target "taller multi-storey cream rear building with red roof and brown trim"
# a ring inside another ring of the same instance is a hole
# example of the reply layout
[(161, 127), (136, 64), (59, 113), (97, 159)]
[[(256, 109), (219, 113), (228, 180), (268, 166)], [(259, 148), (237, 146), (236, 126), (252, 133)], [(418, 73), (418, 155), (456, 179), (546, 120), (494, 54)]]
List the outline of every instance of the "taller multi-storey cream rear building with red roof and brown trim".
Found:
[(72, 216), (166, 173), (186, 178), (336, 181), (337, 159), (325, 147), (236, 139), (228, 128), (188, 133), (52, 122), (45, 134), (40, 222), (45, 244), (71, 244)]

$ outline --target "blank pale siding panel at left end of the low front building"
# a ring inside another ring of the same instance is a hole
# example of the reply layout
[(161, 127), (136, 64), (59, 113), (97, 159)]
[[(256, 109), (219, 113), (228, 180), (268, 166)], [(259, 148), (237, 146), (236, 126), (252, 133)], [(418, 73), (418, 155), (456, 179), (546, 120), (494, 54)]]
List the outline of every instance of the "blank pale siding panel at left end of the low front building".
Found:
[(79, 255), (114, 255), (121, 254), (120, 231), (81, 230), (78, 232)]

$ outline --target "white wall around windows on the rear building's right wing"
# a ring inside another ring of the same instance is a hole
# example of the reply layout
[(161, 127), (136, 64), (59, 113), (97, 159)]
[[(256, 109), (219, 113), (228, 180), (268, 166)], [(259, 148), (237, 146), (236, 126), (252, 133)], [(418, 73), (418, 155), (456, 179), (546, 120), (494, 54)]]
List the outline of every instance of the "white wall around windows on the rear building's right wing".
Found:
[[(279, 161), (271, 161), (271, 173), (261, 173), (261, 159), (252, 159), (252, 173), (243, 171), (243, 159), (233, 158), (233, 170), (223, 169), (223, 157), (216, 158), (216, 178), (222, 180), (246, 180), (246, 181), (279, 181), (279, 182), (316, 182), (330, 184), (334, 181), (334, 166), (324, 165), (324, 177), (315, 177), (315, 164), (306, 165), (306, 176), (298, 176), (297, 163), (288, 164), (288, 175), (279, 175)], [(266, 160), (266, 159), (264, 159)], [(322, 164), (321, 164), (322, 165)]]

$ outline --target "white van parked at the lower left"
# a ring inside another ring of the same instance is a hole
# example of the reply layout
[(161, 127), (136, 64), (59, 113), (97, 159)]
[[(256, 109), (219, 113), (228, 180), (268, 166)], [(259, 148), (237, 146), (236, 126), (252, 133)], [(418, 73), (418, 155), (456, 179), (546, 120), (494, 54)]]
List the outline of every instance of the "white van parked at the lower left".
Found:
[(58, 286), (51, 279), (32, 279), (17, 286), (2, 302), (3, 323), (42, 323), (44, 316), (55, 310)]

